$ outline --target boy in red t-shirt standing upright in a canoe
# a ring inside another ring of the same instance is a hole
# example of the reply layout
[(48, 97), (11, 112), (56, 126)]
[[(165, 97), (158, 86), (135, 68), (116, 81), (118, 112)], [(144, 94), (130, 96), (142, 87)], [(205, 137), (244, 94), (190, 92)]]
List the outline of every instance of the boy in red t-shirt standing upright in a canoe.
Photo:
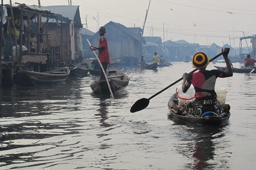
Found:
[[(104, 36), (106, 33), (105, 27), (99, 27), (99, 47), (93, 47), (91, 46), (91, 50), (99, 50), (99, 61), (101, 62), (101, 65), (103, 66), (104, 72), (107, 72), (108, 64), (109, 62), (109, 53), (108, 53), (108, 42), (107, 38)], [(104, 80), (104, 73), (102, 69), (100, 69), (100, 80)]]

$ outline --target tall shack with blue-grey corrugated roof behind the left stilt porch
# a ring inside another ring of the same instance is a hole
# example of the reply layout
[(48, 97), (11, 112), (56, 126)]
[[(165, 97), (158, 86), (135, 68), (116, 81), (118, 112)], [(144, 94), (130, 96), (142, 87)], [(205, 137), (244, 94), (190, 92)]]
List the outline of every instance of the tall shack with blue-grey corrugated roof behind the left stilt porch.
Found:
[[(57, 35), (59, 47), (56, 46), (54, 51), (61, 54), (60, 63), (78, 63), (82, 62), (83, 47), (80, 36), (80, 29), (83, 27), (81, 23), (79, 6), (76, 5), (56, 5), (43, 6), (42, 8), (55, 14), (60, 14), (71, 20), (70, 24), (49, 19), (48, 30), (51, 37)], [(42, 19), (45, 22), (46, 18)], [(59, 24), (57, 24), (57, 22)], [(59, 50), (60, 49), (60, 50)], [(57, 54), (56, 54), (57, 55)]]

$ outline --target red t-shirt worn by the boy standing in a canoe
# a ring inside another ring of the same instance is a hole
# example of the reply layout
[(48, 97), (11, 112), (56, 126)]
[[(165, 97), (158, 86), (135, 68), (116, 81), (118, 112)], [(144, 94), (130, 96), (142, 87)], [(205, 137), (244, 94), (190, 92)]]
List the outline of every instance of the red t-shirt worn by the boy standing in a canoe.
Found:
[(101, 63), (110, 63), (108, 53), (108, 42), (105, 36), (101, 36), (99, 38), (99, 47), (105, 47), (104, 49), (99, 49), (99, 61)]

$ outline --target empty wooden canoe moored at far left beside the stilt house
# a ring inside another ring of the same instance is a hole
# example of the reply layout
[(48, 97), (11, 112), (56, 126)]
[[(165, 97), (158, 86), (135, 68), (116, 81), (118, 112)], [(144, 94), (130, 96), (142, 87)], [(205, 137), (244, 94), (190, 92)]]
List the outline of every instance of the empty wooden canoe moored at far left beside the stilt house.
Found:
[(68, 67), (55, 69), (47, 72), (18, 71), (18, 85), (42, 85), (64, 82), (67, 80), (70, 71)]

